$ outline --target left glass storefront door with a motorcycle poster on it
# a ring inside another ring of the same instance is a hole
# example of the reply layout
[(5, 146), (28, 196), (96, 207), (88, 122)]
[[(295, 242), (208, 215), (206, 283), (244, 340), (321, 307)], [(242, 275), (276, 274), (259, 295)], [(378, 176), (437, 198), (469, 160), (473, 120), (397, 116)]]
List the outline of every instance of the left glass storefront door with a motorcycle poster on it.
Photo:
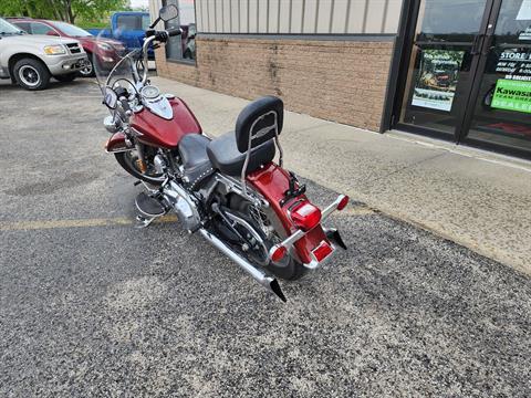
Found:
[(487, 0), (421, 0), (399, 123), (455, 136), (473, 78)]

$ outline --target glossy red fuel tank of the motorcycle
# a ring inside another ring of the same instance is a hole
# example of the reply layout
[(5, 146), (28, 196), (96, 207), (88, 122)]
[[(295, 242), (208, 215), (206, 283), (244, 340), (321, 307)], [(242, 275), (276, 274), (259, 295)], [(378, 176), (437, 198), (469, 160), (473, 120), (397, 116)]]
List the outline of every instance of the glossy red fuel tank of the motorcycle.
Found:
[(174, 118), (167, 121), (149, 109), (135, 113), (129, 121), (131, 127), (143, 135), (138, 140), (143, 144), (173, 149), (186, 134), (201, 134), (202, 129), (188, 105), (180, 98), (169, 100), (174, 109)]

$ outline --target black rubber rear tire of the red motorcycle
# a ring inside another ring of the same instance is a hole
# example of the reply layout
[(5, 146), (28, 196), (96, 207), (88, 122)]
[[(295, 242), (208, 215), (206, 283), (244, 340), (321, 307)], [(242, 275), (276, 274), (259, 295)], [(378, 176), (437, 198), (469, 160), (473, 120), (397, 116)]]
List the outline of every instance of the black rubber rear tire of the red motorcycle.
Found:
[[(257, 222), (253, 220), (253, 217), (251, 216), (250, 208), (252, 207), (252, 205), (247, 200), (240, 201), (240, 199), (237, 199), (236, 202), (231, 203), (230, 208), (235, 209), (235, 206), (239, 216), (246, 219), (249, 223), (251, 223), (257, 230), (257, 232), (261, 233), (261, 229), (257, 226)], [(264, 269), (267, 269), (268, 271), (270, 271), (272, 274), (274, 274), (280, 279), (288, 280), (288, 281), (295, 281), (298, 279), (301, 279), (306, 273), (306, 269), (293, 256), (288, 254), (278, 263), (274, 263), (269, 259), (269, 250), (275, 243), (280, 242), (283, 238), (285, 238), (285, 232), (283, 230), (283, 227), (280, 220), (278, 220), (277, 214), (274, 214), (273, 210), (271, 209), (269, 209), (269, 211), (266, 210), (262, 214), (266, 223), (274, 228), (274, 233), (273, 233), (274, 239), (268, 240), (266, 235), (261, 233), (267, 248), (266, 264), (261, 263), (260, 260), (258, 260), (256, 256), (253, 258), (252, 255), (247, 255), (248, 259), (250, 261), (260, 263), (260, 265), (262, 265)], [(262, 260), (263, 260), (263, 256), (262, 256)]]

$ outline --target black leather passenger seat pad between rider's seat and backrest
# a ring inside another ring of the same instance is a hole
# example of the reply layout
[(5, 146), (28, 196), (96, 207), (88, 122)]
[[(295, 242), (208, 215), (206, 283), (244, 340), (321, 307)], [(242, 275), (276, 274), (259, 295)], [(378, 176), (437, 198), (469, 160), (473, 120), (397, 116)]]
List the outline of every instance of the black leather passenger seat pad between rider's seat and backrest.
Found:
[[(261, 165), (274, 158), (274, 140), (270, 139), (251, 149), (247, 174), (257, 170)], [(208, 157), (214, 167), (229, 176), (240, 176), (246, 154), (238, 150), (235, 132), (226, 133), (212, 139), (207, 148)]]

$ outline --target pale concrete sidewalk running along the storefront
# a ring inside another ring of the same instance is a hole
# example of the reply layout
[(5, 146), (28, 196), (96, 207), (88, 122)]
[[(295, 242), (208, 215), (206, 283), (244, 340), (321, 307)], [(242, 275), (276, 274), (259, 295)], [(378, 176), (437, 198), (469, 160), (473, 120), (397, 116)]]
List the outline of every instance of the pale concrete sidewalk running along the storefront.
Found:
[[(248, 104), (152, 80), (183, 97), (211, 136), (233, 129)], [(281, 143), (285, 166), (301, 176), (531, 274), (530, 163), (291, 112)]]

